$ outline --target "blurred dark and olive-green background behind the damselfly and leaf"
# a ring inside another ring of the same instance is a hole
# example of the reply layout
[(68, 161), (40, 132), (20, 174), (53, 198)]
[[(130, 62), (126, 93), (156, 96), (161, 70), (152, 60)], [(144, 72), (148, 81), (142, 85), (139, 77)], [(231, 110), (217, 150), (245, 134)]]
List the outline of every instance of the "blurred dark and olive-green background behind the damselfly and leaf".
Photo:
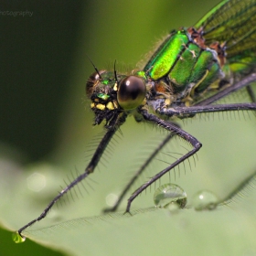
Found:
[[(101, 127), (91, 128), (93, 115), (85, 101), (84, 87), (93, 72), (86, 55), (99, 69), (112, 67), (115, 59), (117, 67), (135, 68), (170, 30), (195, 24), (217, 3), (218, 0), (1, 3), (1, 12), (32, 12), (31, 16), (0, 13), (1, 157), (21, 166), (21, 170), (43, 161), (67, 172), (75, 167), (82, 169), (86, 144), (93, 134), (101, 132)], [(60, 176), (60, 182), (61, 176), (65, 177), (61, 172), (56, 176)], [(17, 217), (20, 214), (16, 208)], [(25, 224), (23, 221), (20, 225)], [(7, 223), (3, 225), (10, 228)], [(0, 240), (5, 244), (2, 255), (35, 255), (35, 251), (37, 255), (61, 255), (29, 240), (16, 245), (4, 229)]]

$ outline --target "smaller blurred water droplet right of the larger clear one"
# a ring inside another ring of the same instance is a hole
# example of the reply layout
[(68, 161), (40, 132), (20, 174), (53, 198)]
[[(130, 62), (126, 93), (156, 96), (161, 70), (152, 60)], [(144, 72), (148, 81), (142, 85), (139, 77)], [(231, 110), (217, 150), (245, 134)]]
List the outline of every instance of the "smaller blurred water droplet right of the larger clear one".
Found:
[(208, 190), (201, 190), (192, 199), (192, 205), (196, 210), (214, 209), (218, 206), (219, 199)]

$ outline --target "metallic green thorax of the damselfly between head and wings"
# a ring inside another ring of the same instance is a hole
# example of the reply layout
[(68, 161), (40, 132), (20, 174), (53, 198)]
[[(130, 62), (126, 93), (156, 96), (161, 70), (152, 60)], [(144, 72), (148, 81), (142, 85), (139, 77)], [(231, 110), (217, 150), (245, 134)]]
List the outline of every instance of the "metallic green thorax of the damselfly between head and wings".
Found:
[(205, 46), (202, 37), (196, 41), (190, 30), (172, 32), (144, 67), (156, 91), (170, 92), (174, 100), (199, 94), (223, 76), (218, 53)]

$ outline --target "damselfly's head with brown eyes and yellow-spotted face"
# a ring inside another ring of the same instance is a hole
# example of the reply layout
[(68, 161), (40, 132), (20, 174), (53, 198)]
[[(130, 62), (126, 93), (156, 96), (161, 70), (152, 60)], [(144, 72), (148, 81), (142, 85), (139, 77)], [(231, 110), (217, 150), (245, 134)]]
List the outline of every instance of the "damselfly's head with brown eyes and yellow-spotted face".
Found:
[(107, 70), (97, 70), (86, 83), (86, 94), (91, 99), (95, 123), (109, 123), (113, 116), (130, 112), (145, 102), (146, 87), (143, 77), (120, 75)]

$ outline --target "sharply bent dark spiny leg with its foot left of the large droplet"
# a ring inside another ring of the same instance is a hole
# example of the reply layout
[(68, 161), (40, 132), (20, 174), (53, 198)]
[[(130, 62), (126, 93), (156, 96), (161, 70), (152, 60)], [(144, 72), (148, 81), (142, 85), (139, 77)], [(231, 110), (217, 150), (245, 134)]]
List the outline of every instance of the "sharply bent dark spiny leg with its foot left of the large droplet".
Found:
[(175, 135), (178, 135), (179, 137), (186, 140), (189, 144), (191, 144), (193, 146), (193, 149), (190, 150), (189, 152), (187, 152), (187, 154), (178, 158), (176, 160), (176, 162), (174, 162), (172, 165), (169, 165), (167, 168), (162, 170), (160, 173), (153, 176), (149, 181), (144, 183), (143, 186), (136, 189), (133, 192), (132, 196), (129, 197), (129, 199), (128, 199), (128, 203), (127, 203), (127, 207), (126, 207), (125, 212), (130, 212), (130, 208), (131, 208), (131, 204), (132, 204), (133, 200), (135, 199), (135, 197), (139, 196), (144, 191), (144, 189), (146, 187), (149, 187), (150, 185), (155, 183), (155, 181), (158, 180), (161, 176), (164, 176), (167, 172), (169, 172), (171, 169), (173, 169), (176, 165), (179, 165), (180, 163), (185, 161), (188, 157), (190, 157), (192, 155), (195, 155), (197, 153), (197, 151), (200, 149), (200, 147), (202, 146), (202, 144), (200, 144), (195, 137), (193, 137), (189, 133), (183, 131), (181, 128), (177, 127), (173, 123), (168, 123), (168, 122), (158, 118), (154, 114), (151, 114), (151, 113), (149, 113), (145, 110), (140, 110), (140, 112), (144, 116), (145, 121), (155, 123), (159, 126), (162, 126), (164, 129), (166, 129), (170, 133), (174, 133)]

